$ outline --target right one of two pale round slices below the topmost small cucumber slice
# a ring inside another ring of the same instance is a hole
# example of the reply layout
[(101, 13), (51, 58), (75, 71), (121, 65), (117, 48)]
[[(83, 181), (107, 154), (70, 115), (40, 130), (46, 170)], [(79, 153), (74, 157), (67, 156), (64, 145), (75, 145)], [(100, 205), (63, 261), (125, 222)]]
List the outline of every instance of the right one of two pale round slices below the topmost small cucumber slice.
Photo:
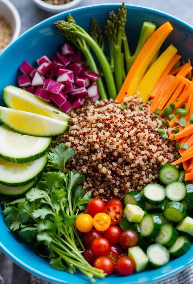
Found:
[(166, 196), (172, 201), (182, 201), (186, 197), (186, 186), (181, 181), (173, 181), (165, 188)]

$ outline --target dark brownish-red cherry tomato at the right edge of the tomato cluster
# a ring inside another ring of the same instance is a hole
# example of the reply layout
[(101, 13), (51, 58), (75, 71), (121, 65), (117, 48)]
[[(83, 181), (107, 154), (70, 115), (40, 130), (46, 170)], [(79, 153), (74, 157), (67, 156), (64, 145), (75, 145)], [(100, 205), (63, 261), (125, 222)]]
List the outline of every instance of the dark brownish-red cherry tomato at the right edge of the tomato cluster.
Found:
[(121, 233), (120, 244), (123, 249), (127, 250), (128, 248), (134, 247), (138, 242), (138, 236), (136, 232), (132, 229), (127, 229)]

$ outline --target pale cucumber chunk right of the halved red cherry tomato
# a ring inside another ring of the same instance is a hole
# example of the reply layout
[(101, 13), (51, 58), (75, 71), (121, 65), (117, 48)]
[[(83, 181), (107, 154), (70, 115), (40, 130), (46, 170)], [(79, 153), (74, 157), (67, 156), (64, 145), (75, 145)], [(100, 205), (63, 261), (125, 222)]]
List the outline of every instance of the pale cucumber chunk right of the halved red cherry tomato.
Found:
[(140, 223), (145, 212), (140, 206), (134, 204), (127, 204), (123, 210), (123, 213), (129, 222)]

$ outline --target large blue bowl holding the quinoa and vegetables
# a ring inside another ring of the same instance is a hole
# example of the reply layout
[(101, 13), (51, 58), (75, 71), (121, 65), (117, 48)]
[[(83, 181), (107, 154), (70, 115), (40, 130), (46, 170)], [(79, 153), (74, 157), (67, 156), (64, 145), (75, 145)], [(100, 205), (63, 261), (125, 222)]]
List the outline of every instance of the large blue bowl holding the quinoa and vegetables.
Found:
[[(89, 31), (91, 17), (95, 16), (104, 27), (110, 10), (117, 11), (120, 4), (93, 5), (70, 10), (77, 24)], [(174, 30), (166, 39), (164, 45), (173, 43), (182, 55), (183, 59), (193, 59), (193, 28), (185, 22), (160, 11), (140, 6), (126, 5), (127, 24), (126, 32), (131, 51), (136, 46), (140, 28), (144, 21), (153, 21), (160, 26), (170, 21)], [(37, 24), (25, 34), (20, 36), (0, 55), (0, 105), (4, 105), (2, 91), (6, 85), (17, 85), (16, 76), (18, 66), (23, 60), (34, 64), (42, 55), (51, 56), (61, 47), (64, 37), (57, 34), (53, 22), (65, 19), (69, 11), (63, 12)], [(89, 283), (88, 279), (80, 273), (74, 275), (50, 268), (46, 260), (35, 254), (29, 245), (19, 243), (14, 235), (6, 227), (0, 208), (0, 249), (7, 254), (16, 264), (44, 279), (54, 283)], [(146, 270), (141, 273), (133, 273), (128, 277), (120, 277), (117, 274), (106, 277), (104, 280), (96, 279), (97, 283), (149, 283), (167, 277), (193, 262), (193, 247), (182, 257), (171, 260), (167, 265), (155, 270)]]

